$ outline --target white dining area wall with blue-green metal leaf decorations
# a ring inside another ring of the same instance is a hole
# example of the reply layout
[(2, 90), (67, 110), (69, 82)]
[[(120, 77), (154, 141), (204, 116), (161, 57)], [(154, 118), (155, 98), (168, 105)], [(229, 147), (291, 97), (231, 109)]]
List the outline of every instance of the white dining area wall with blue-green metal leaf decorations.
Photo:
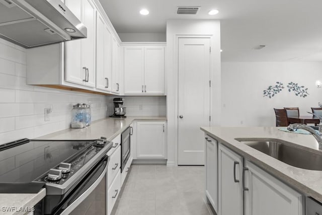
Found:
[[(221, 63), (221, 125), (275, 126), (273, 108), (299, 107), (300, 114), (309, 115), (311, 107), (322, 102), (321, 62), (222, 62)], [(284, 89), (269, 99), (263, 90), (276, 82)], [(288, 92), (289, 82), (308, 88), (305, 98)]]

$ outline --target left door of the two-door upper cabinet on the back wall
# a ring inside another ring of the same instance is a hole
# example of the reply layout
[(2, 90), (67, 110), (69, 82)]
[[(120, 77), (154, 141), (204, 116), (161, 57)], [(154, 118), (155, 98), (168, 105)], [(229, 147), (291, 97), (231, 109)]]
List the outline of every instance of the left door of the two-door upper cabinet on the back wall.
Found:
[(144, 47), (124, 47), (124, 94), (143, 94)]

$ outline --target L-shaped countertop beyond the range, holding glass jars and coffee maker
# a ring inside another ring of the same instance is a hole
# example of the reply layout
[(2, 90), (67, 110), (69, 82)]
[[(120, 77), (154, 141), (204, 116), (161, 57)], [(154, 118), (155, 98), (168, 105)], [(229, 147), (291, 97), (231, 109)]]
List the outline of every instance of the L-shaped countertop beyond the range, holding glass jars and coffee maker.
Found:
[(98, 139), (101, 136), (112, 140), (122, 133), (134, 120), (167, 120), (166, 116), (127, 116), (126, 118), (107, 117), (96, 120), (85, 128), (68, 128), (36, 139)]

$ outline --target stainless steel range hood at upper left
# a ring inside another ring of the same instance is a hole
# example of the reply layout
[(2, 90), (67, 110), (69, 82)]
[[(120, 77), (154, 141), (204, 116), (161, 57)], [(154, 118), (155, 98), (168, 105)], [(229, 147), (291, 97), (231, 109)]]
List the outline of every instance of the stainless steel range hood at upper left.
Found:
[(0, 0), (0, 37), (25, 48), (87, 37), (60, 0)]

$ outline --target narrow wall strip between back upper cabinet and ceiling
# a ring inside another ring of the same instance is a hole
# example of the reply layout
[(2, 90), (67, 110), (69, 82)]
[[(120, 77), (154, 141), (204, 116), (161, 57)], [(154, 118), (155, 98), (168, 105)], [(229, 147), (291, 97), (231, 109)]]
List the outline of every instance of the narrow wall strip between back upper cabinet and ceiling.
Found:
[(122, 42), (166, 42), (166, 33), (118, 33)]

